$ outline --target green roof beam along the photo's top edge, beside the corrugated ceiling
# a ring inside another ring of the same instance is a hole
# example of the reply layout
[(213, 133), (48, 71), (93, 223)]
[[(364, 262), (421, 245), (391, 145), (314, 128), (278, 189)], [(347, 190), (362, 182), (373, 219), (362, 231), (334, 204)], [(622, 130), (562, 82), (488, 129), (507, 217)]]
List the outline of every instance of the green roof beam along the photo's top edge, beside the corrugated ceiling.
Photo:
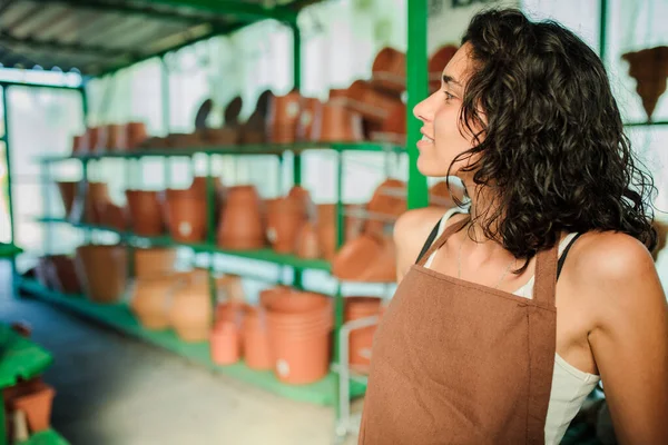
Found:
[(287, 7), (265, 7), (262, 3), (246, 3), (232, 0), (153, 0), (154, 4), (164, 4), (196, 11), (206, 11), (234, 17), (235, 20), (258, 21), (275, 19), (287, 23), (297, 21), (297, 11)]

